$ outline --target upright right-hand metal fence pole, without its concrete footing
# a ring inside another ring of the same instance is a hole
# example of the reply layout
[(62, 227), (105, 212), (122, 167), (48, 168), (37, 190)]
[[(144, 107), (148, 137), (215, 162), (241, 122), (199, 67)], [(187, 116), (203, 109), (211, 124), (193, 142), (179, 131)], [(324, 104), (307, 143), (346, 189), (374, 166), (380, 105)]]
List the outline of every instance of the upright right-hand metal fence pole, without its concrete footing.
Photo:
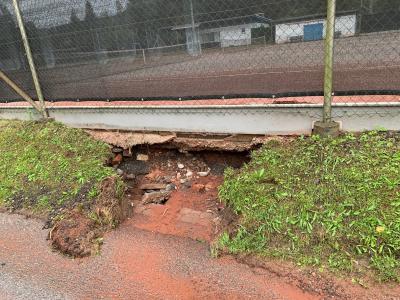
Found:
[(336, 0), (327, 0), (327, 21), (325, 37), (325, 78), (324, 78), (324, 115), (323, 122), (332, 121), (333, 87), (333, 48), (335, 39)]

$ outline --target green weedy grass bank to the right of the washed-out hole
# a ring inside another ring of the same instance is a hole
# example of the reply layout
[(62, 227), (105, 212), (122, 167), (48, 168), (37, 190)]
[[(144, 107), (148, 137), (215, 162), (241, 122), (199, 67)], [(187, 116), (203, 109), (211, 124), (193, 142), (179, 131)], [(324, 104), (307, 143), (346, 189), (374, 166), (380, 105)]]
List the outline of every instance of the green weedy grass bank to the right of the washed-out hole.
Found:
[(400, 278), (400, 135), (271, 141), (220, 198), (241, 216), (218, 249), (381, 281)]

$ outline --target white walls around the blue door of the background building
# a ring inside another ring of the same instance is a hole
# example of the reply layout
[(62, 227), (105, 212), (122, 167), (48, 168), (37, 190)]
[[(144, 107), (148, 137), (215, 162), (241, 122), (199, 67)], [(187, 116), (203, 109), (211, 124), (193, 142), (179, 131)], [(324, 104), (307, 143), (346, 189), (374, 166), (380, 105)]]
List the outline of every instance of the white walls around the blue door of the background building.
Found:
[[(290, 42), (290, 38), (304, 35), (305, 25), (312, 25), (318, 23), (324, 24), (324, 37), (325, 37), (326, 19), (316, 19), (304, 22), (277, 24), (275, 41), (278, 44), (288, 43)], [(340, 16), (336, 18), (335, 31), (341, 32), (341, 36), (353, 36), (356, 33), (356, 26), (357, 26), (356, 15)]]

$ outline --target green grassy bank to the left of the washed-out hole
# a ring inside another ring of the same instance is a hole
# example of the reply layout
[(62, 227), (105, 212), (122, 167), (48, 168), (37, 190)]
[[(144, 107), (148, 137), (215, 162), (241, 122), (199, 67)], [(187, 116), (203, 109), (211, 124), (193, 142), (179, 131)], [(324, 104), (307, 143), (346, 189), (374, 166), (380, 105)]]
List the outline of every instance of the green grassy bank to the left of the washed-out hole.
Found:
[(0, 206), (38, 214), (80, 205), (90, 208), (108, 146), (80, 129), (56, 122), (0, 122)]

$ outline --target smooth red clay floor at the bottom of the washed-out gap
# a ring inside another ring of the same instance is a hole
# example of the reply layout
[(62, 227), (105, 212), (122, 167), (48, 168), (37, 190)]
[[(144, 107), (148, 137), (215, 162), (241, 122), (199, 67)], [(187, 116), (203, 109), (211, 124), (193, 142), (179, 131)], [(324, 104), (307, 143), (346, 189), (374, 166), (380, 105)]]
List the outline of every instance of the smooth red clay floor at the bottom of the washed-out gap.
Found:
[(179, 184), (164, 205), (142, 205), (136, 201), (130, 223), (149, 231), (211, 241), (220, 223), (222, 206), (217, 200), (220, 183), (221, 176), (209, 176), (196, 179), (191, 187)]

